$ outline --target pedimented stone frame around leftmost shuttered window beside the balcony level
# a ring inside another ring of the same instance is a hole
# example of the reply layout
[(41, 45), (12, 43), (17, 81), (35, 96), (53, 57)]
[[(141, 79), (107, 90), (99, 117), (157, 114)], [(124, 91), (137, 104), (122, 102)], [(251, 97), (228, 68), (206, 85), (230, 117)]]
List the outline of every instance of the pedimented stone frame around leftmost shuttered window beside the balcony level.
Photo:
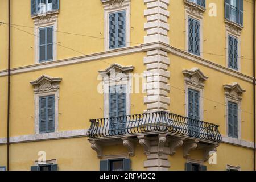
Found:
[(30, 84), (34, 86), (34, 133), (39, 133), (39, 98), (42, 96), (55, 96), (55, 118), (54, 118), (54, 132), (59, 131), (59, 83), (61, 78), (52, 78), (47, 75), (40, 76), (37, 80), (31, 81)]

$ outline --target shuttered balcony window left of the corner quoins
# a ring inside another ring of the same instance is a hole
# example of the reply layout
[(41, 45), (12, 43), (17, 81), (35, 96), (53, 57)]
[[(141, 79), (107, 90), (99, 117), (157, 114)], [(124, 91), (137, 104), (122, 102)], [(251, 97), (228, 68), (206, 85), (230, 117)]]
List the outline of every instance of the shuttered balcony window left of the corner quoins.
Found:
[(110, 134), (125, 134), (126, 85), (109, 86)]

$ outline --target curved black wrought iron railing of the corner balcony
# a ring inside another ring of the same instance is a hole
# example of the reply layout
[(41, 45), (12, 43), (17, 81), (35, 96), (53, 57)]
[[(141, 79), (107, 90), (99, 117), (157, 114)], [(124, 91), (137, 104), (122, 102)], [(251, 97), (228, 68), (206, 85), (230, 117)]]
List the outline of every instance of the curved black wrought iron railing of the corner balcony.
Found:
[(173, 134), (220, 142), (218, 125), (168, 112), (91, 119), (90, 138), (167, 131)]

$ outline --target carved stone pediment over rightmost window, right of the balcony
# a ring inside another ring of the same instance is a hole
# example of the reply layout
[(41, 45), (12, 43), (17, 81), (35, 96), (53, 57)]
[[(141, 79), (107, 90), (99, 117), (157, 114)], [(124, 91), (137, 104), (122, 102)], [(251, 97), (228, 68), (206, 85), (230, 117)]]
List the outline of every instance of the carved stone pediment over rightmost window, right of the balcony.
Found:
[(223, 87), (225, 89), (225, 95), (235, 100), (242, 100), (242, 94), (246, 91), (237, 82), (225, 84)]

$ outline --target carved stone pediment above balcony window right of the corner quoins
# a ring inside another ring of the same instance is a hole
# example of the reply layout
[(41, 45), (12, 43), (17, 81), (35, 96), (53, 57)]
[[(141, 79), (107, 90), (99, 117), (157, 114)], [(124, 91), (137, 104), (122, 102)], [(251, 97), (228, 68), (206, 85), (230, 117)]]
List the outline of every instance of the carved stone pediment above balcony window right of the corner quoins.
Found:
[(204, 81), (208, 79), (207, 76), (199, 68), (192, 68), (190, 70), (183, 70), (185, 82), (194, 86), (204, 87)]

